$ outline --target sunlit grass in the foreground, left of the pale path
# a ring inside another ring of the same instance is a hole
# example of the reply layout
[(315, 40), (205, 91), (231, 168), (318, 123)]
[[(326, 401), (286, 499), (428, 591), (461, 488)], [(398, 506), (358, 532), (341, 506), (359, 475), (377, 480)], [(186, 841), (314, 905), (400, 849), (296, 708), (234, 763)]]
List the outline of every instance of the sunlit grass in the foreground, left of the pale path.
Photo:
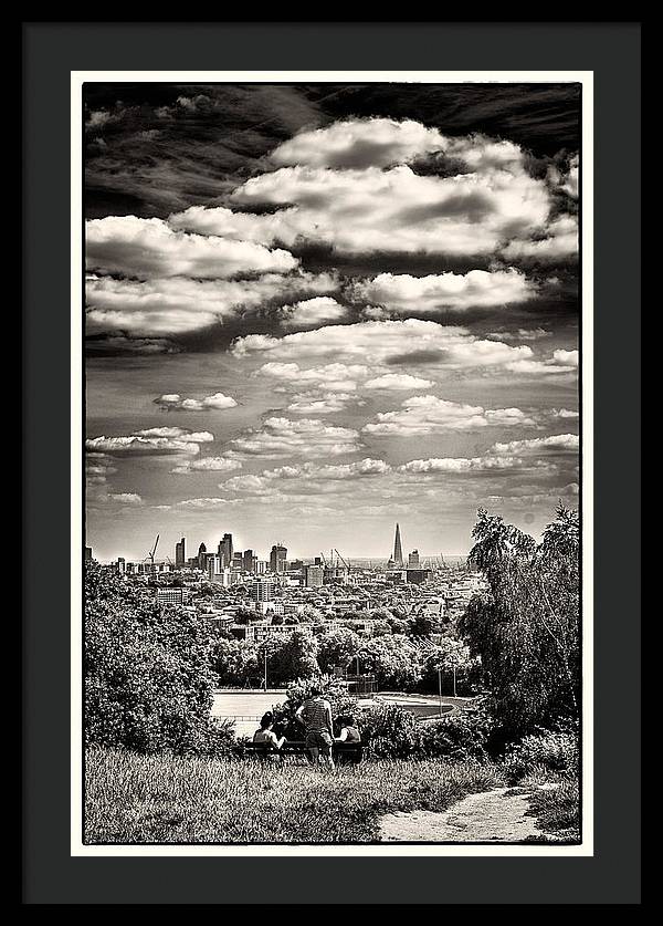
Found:
[(93, 748), (86, 757), (85, 841), (98, 843), (376, 842), (378, 818), (445, 810), (499, 784), (495, 766), (370, 761), (328, 774)]

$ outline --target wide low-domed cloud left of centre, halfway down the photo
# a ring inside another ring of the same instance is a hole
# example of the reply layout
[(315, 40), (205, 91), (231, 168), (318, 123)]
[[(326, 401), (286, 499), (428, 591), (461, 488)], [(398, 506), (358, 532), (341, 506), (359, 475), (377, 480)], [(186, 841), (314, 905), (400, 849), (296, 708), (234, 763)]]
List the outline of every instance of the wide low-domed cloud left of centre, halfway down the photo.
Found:
[(231, 440), (228, 456), (234, 459), (278, 459), (293, 454), (327, 457), (351, 454), (360, 446), (359, 434), (352, 428), (326, 425), (315, 418), (293, 422), (272, 417), (264, 422), (262, 428)]

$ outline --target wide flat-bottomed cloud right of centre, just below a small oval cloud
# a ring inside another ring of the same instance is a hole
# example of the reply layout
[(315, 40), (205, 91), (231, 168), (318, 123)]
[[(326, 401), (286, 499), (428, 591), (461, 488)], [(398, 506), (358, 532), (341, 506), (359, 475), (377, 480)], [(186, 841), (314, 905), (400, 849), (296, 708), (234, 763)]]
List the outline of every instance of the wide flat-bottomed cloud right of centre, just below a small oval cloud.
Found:
[(536, 422), (519, 408), (484, 409), (480, 405), (418, 395), (407, 398), (401, 410), (380, 412), (377, 423), (365, 425), (362, 430), (371, 435), (409, 437), (450, 430), (477, 430), (488, 425), (535, 427)]

